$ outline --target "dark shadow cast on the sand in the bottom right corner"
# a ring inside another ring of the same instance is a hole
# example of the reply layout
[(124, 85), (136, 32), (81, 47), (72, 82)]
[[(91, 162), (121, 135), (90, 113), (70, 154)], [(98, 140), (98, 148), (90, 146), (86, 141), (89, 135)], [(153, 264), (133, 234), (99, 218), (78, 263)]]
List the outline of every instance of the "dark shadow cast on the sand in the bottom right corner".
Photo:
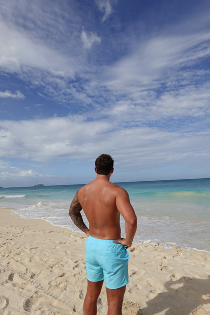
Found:
[[(166, 292), (161, 292), (139, 309), (136, 315), (153, 315), (165, 310), (165, 315), (210, 314), (199, 306), (210, 304), (210, 275), (207, 279), (181, 277), (165, 283)], [(206, 296), (208, 295), (208, 296)], [(197, 309), (198, 308), (198, 309)], [(197, 310), (196, 310), (197, 309)]]

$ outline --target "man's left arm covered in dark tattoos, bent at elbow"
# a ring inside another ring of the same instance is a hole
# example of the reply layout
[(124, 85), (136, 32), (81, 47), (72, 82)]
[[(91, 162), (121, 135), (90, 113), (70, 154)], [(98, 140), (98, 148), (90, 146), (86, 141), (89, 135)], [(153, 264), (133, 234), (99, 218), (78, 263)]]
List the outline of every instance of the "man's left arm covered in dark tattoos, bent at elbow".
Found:
[(77, 190), (74, 196), (74, 199), (72, 200), (71, 206), (69, 208), (69, 215), (72, 221), (74, 222), (74, 224), (83, 232), (85, 232), (87, 236), (89, 236), (89, 229), (85, 225), (82, 219), (81, 213), (80, 213), (82, 210), (82, 207), (78, 201), (78, 192), (79, 192), (79, 189)]

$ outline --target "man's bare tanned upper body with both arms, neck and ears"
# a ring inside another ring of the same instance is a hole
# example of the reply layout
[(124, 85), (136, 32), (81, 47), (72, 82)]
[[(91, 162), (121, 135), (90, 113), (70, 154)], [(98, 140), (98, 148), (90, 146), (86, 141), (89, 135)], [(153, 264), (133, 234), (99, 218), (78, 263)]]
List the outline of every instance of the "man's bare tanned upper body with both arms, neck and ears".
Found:
[[(125, 219), (126, 239), (118, 242), (130, 247), (136, 231), (134, 228), (136, 215), (127, 191), (109, 181), (113, 170), (109, 175), (97, 174), (94, 181), (81, 187), (72, 201), (69, 214), (74, 223), (87, 235), (103, 240), (121, 238), (121, 214)], [(95, 172), (97, 173), (96, 168)], [(89, 222), (89, 229), (82, 220), (80, 214), (82, 209)]]

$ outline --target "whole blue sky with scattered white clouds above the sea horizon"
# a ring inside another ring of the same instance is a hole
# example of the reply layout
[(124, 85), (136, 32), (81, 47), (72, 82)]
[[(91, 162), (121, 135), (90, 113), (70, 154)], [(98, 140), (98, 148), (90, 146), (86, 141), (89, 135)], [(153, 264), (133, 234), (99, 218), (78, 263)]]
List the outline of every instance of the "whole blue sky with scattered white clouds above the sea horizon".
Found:
[(0, 186), (210, 177), (210, 2), (0, 0)]

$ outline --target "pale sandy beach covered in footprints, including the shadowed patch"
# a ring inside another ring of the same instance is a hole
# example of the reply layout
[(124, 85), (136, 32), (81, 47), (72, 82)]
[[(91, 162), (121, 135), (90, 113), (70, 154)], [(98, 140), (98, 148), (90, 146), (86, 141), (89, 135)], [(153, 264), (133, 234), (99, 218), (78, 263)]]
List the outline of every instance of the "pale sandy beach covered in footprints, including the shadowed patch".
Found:
[[(0, 314), (83, 314), (86, 235), (0, 209)], [(210, 315), (210, 253), (133, 244), (124, 315)], [(107, 314), (103, 286), (98, 314)]]

